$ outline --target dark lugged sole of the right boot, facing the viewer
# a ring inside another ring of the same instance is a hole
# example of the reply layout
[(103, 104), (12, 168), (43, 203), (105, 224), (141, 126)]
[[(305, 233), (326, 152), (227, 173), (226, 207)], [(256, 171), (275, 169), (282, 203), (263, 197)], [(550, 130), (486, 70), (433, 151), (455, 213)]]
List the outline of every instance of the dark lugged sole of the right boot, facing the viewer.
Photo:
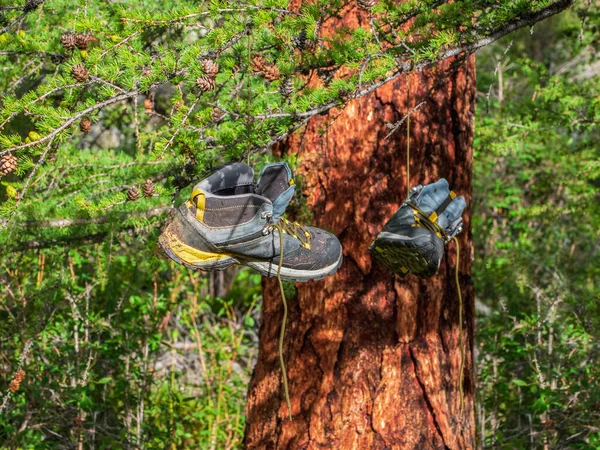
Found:
[(427, 278), (438, 269), (438, 266), (432, 264), (419, 250), (419, 247), (427, 243), (429, 238), (423, 236), (409, 237), (382, 232), (369, 250), (376, 260), (401, 277), (412, 272)]

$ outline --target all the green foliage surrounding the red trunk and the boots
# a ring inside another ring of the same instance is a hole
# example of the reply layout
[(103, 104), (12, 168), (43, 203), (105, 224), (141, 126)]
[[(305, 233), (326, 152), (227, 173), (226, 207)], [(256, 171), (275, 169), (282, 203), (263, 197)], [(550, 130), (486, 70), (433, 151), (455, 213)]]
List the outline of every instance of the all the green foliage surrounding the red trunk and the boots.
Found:
[[(380, 0), (361, 27), (332, 32), (348, 2), (288, 3), (0, 1), (0, 157), (19, 161), (0, 179), (2, 448), (238, 448), (260, 277), (159, 259), (168, 210), (216, 166), (250, 154), (260, 167), (273, 143), (377, 83), (568, 5)], [(545, 25), (518, 36), (502, 104), (480, 103), (474, 279), (483, 302), (504, 305), (478, 336), (490, 446), (542, 434), (600, 445), (586, 415), (598, 410), (598, 91), (582, 75), (598, 19), (579, 13), (551, 38)], [(67, 32), (93, 39), (67, 49)], [(480, 90), (496, 83), (493, 57), (507, 45), (481, 55)], [(256, 55), (280, 76), (257, 70)], [(219, 70), (203, 91), (207, 58)], [(86, 81), (74, 77), (81, 64)], [(147, 179), (159, 195), (126, 201)]]

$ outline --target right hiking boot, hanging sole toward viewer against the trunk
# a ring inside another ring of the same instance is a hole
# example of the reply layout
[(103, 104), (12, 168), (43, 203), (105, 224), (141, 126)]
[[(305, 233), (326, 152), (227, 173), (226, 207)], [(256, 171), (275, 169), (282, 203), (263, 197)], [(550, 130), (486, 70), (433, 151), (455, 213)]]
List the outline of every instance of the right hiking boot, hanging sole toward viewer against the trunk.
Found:
[(369, 250), (392, 272), (404, 277), (434, 275), (444, 255), (444, 244), (462, 231), (463, 197), (441, 179), (411, 189), (406, 202), (385, 224)]

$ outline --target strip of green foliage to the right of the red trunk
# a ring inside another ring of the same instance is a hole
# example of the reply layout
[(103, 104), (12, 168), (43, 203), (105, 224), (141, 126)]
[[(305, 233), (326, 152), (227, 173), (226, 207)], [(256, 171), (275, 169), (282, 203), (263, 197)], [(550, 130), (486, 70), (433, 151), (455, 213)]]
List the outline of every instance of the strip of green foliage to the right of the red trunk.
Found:
[(489, 448), (600, 445), (598, 20), (581, 17), (479, 55), (473, 274)]

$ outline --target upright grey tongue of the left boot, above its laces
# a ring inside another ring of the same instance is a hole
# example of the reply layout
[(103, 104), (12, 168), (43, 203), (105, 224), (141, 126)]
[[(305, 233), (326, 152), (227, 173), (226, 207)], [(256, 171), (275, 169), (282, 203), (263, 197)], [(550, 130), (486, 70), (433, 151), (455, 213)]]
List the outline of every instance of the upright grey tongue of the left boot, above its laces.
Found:
[(296, 185), (287, 163), (267, 164), (256, 184), (256, 193), (273, 203), (273, 221), (279, 220), (294, 197)]

